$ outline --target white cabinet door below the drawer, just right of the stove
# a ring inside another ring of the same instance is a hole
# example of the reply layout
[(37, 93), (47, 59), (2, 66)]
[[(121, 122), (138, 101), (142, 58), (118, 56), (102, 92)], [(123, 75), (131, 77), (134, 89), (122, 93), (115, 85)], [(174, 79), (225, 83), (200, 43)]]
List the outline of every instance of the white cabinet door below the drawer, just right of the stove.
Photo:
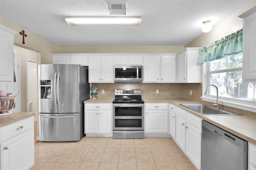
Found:
[(146, 111), (146, 132), (168, 132), (168, 111)]

